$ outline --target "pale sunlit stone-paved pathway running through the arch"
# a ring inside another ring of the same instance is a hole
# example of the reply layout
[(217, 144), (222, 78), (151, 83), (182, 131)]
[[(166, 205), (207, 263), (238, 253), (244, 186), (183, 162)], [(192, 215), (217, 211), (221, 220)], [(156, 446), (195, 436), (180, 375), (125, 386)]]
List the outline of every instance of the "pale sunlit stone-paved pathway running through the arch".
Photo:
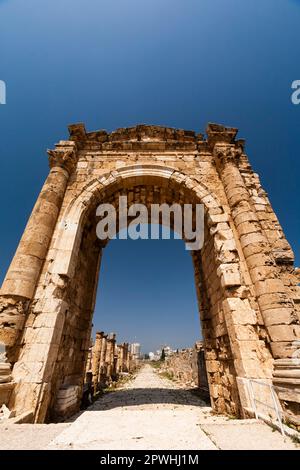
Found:
[(70, 423), (0, 425), (0, 449), (295, 449), (256, 420), (213, 416), (194, 393), (144, 366)]

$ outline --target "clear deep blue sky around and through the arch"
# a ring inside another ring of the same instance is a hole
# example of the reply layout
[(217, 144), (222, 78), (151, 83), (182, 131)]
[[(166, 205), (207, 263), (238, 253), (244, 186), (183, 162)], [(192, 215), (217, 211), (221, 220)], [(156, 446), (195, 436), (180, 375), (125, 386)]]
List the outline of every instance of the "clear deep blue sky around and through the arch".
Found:
[[(48, 173), (45, 149), (78, 121), (237, 126), (299, 264), (299, 25), (296, 0), (0, 0), (0, 279)], [(180, 241), (112, 242), (101, 277), (96, 327), (145, 350), (198, 336)]]

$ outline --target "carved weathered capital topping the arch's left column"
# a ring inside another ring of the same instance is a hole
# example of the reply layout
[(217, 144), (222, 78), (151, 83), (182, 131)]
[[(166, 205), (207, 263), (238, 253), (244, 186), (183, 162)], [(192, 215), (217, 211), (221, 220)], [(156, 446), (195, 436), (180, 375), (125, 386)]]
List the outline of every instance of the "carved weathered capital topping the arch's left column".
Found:
[(66, 170), (69, 175), (77, 164), (77, 145), (71, 141), (60, 141), (54, 150), (47, 150), (50, 168), (60, 167)]

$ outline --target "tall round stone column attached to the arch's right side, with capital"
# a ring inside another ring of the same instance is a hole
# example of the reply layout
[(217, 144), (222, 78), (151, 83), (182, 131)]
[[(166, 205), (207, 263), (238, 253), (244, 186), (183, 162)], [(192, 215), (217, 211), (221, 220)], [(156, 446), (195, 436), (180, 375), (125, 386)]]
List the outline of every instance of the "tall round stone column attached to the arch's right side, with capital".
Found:
[(209, 127), (208, 140), (213, 149), (217, 169), (255, 288), (256, 299), (270, 338), (275, 359), (274, 378), (277, 377), (279, 368), (281, 378), (284, 374), (287, 378), (293, 375), (295, 379), (297, 376), (299, 387), (300, 369), (294, 360), (297, 338), (300, 335), (299, 321), (240, 173), (239, 159), (243, 148), (240, 142), (234, 141), (236, 132), (236, 129)]

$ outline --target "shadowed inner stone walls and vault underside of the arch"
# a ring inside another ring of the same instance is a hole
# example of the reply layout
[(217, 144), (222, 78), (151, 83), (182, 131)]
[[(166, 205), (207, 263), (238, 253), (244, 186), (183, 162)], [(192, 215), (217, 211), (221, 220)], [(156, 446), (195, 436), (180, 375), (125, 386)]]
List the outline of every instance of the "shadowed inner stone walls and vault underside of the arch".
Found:
[[(126, 172), (129, 170), (126, 169)], [(110, 203), (118, 211), (119, 197), (124, 195), (127, 195), (129, 203), (142, 203), (149, 208), (153, 203), (195, 205), (202, 202), (197, 193), (183, 181), (170, 181), (157, 175), (128, 176), (125, 179), (115, 177), (115, 180), (108, 186), (104, 186), (102, 191), (93, 192), (87, 210), (81, 214), (80, 240), (75, 244), (76, 251), (74, 247), (72, 249), (72, 269), (67, 271), (73, 273), (73, 276), (65, 292), (65, 298), (68, 299), (68, 313), (52, 377), (50, 410), (55, 410), (56, 395), (61, 387), (69, 385), (82, 387), (100, 261), (105, 247), (105, 243), (97, 238), (95, 212), (99, 202)], [(222, 214), (222, 209), (213, 205), (213, 198), (208, 198), (207, 204), (210, 207), (206, 207), (205, 210), (204, 246), (202, 250), (194, 251), (192, 258), (208, 361), (210, 396), (216, 411), (239, 414), (239, 398), (235, 380), (237, 374), (222, 308), (223, 288), (220, 277), (216, 275), (218, 266), (213, 256), (214, 233), (207, 221), (209, 208), (215, 214)], [(229, 227), (228, 230), (230, 232)], [(62, 274), (64, 273), (61, 272), (60, 275)], [(66, 352), (69, 353), (68, 356)], [(70, 357), (69, 361), (67, 357)], [(224, 377), (223, 383), (221, 376)], [(216, 384), (222, 387), (223, 393), (215, 393)]]

